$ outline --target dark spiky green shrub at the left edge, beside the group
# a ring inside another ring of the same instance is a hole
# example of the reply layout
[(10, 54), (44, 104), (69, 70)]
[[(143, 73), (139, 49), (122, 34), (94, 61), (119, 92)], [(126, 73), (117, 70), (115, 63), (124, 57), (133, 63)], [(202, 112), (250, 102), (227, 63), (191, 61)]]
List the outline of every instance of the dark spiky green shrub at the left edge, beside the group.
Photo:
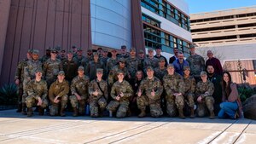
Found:
[(5, 84), (0, 89), (0, 105), (15, 105), (17, 103), (17, 86)]

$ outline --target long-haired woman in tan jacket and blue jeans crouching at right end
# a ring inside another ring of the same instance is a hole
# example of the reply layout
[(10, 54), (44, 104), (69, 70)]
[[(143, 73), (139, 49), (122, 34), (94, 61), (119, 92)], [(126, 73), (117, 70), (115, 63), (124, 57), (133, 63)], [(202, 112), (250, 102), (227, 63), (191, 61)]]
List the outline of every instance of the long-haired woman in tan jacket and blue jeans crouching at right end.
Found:
[(221, 110), (218, 112), (218, 118), (232, 118), (239, 117), (238, 112), (241, 109), (241, 102), (239, 101), (236, 84), (232, 82), (230, 72), (224, 72), (222, 78), (222, 103), (220, 103)]

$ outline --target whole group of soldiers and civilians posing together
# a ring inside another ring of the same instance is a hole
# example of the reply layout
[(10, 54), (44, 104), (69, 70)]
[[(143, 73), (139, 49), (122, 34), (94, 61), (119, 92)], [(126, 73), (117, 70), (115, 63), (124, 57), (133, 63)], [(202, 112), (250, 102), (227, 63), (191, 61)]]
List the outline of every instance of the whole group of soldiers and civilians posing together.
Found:
[[(38, 49), (29, 49), (15, 73), (19, 86), (19, 109), (28, 117), (32, 107), (38, 114), (49, 109), (50, 116), (65, 116), (67, 103), (73, 108), (73, 116), (85, 114), (90, 106), (91, 117), (124, 118), (132, 114), (143, 118), (149, 112), (158, 118), (237, 118), (241, 110), (236, 84), (230, 73), (223, 72), (220, 62), (207, 51), (208, 60), (195, 54), (185, 60), (183, 53), (173, 49), (169, 63), (161, 55), (161, 48), (148, 49), (148, 55), (135, 48), (126, 52), (116, 49), (87, 50), (72, 47), (65, 50), (46, 49), (39, 59)], [(207, 70), (207, 71), (206, 71)], [(147, 108), (148, 107), (148, 108)]]

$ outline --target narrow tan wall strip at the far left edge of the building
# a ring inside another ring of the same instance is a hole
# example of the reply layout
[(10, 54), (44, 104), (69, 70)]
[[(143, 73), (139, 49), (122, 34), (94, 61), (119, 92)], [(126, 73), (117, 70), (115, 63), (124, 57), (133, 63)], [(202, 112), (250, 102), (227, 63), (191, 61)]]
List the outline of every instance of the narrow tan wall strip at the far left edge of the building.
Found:
[(11, 0), (0, 0), (0, 75), (2, 72), (5, 37), (9, 21)]

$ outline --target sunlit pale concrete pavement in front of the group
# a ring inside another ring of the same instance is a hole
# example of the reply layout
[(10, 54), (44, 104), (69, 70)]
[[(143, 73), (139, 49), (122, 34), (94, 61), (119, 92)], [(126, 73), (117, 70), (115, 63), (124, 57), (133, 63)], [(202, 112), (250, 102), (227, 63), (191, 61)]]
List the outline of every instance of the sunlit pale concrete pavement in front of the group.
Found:
[(256, 121), (208, 118), (32, 118), (0, 111), (0, 143), (255, 143)]

